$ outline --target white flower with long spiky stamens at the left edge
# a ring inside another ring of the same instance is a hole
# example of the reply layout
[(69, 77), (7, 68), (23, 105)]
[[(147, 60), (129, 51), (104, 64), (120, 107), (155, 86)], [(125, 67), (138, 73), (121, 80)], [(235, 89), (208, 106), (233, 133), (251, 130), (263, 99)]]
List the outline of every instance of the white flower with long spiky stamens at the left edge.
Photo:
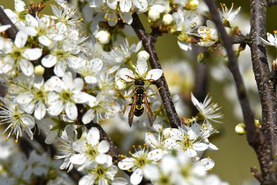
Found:
[(35, 126), (35, 118), (24, 113), (15, 102), (2, 97), (0, 97), (0, 100), (0, 125), (7, 125), (4, 133), (10, 130), (6, 139), (14, 134), (17, 142), (19, 136), (22, 136), (22, 130), (28, 134), (30, 139), (33, 139), (31, 129)]

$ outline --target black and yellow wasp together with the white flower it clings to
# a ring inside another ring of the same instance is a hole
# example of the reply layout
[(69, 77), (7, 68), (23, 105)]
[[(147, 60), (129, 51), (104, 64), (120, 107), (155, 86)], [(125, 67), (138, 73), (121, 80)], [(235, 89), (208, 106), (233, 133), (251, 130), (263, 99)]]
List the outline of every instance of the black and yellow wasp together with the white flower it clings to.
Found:
[[(148, 65), (145, 59), (139, 58), (139, 60), (136, 63), (136, 76), (134, 75), (133, 71), (123, 68), (119, 72), (120, 78), (127, 82), (134, 82), (134, 89), (132, 96), (125, 96), (133, 99), (133, 102), (131, 105), (131, 109), (128, 114), (128, 121), (129, 126), (132, 126), (133, 118), (134, 116), (141, 116), (144, 111), (143, 104), (145, 105), (146, 112), (148, 114), (148, 121), (150, 123), (150, 126), (154, 123), (153, 118), (153, 112), (150, 107), (150, 103), (148, 102), (148, 97), (156, 94), (150, 94), (147, 95), (148, 87), (145, 87), (148, 83), (151, 83), (155, 80), (158, 80), (161, 75), (163, 74), (163, 71), (161, 69), (152, 69), (148, 71)], [(125, 107), (125, 109), (127, 106)], [(123, 113), (125, 112), (125, 109), (123, 110)]]

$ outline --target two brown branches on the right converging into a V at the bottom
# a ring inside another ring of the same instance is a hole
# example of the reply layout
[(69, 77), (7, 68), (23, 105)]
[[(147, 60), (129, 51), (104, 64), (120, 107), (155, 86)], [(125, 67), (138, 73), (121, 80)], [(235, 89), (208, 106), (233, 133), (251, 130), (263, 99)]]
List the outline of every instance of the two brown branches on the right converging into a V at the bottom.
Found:
[[(217, 8), (212, 0), (205, 0), (208, 8), (211, 11), (211, 16), (215, 25), (217, 26), (217, 30), (222, 37), (222, 42), (224, 47), (226, 48), (227, 55), (229, 58), (229, 70), (231, 71), (235, 85), (237, 87), (237, 94), (240, 100), (240, 105), (242, 107), (242, 113), (244, 116), (244, 122), (247, 125), (247, 141), (256, 151), (258, 156), (258, 160), (260, 162), (260, 168), (262, 170), (262, 175), (259, 180), (261, 180), (262, 184), (276, 184), (276, 174), (273, 170), (272, 162), (274, 162), (273, 155), (271, 151), (274, 151), (274, 146), (270, 146), (270, 143), (265, 139), (264, 134), (260, 132), (258, 127), (254, 124), (254, 116), (249, 105), (249, 100), (247, 98), (247, 94), (245, 91), (244, 83), (242, 81), (242, 76), (240, 75), (240, 71), (238, 68), (237, 59), (235, 57), (235, 53), (232, 49), (232, 38), (226, 33), (222, 21), (220, 19), (219, 12), (217, 12)], [(255, 8), (253, 8), (255, 6)], [(270, 90), (270, 85), (268, 81), (268, 73), (269, 69), (267, 66), (267, 58), (265, 54), (265, 46), (262, 46), (262, 42), (260, 41), (260, 35), (265, 35), (265, 8), (266, 3), (260, 3), (259, 0), (254, 0), (251, 3), (251, 53), (253, 60), (253, 71), (256, 76), (256, 81), (258, 84), (258, 89), (260, 92), (260, 98), (262, 101), (262, 117), (263, 117), (263, 125), (262, 128), (267, 130), (268, 125), (274, 124), (272, 119), (276, 121), (276, 94), (274, 94), (273, 89)], [(259, 21), (260, 20), (260, 21)], [(253, 26), (254, 25), (254, 26)], [(255, 42), (253, 42), (255, 41)], [(272, 100), (274, 98), (274, 100)], [(269, 103), (269, 100), (271, 101)], [(274, 110), (275, 109), (275, 110)], [(276, 122), (275, 122), (276, 123)], [(270, 130), (272, 131), (272, 130)], [(270, 132), (269, 131), (269, 132)], [(274, 132), (269, 133), (269, 135)], [(272, 150), (271, 150), (272, 147)], [(274, 177), (275, 176), (275, 177)], [(258, 175), (256, 175), (258, 177)]]

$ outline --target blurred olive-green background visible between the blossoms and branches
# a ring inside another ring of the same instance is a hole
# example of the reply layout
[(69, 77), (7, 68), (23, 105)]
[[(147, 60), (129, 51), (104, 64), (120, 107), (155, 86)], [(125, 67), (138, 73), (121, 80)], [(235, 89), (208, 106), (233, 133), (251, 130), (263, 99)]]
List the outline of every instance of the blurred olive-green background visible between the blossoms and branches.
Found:
[[(10, 9), (13, 9), (13, 2), (13, 0), (0, 0), (1, 6)], [(28, 3), (28, 1), (26, 2)], [(54, 3), (52, 0), (49, 2)], [(228, 7), (232, 2), (235, 4), (235, 8), (242, 6), (242, 12), (249, 17), (249, 1), (235, 0), (217, 2), (226, 3)], [(44, 12), (51, 10), (50, 6), (47, 5), (48, 3), (46, 4)], [(271, 33), (274, 29), (277, 29), (274, 21), (276, 19), (276, 11), (277, 7), (271, 7), (267, 12), (267, 31)], [(271, 52), (269, 51), (269, 53)], [(171, 61), (173, 59), (181, 60), (185, 54), (177, 46), (177, 39), (170, 35), (159, 37), (157, 53), (161, 62)], [(222, 133), (216, 136), (215, 139), (212, 139), (212, 142), (219, 150), (206, 152), (206, 156), (215, 160), (215, 168), (213, 168), (211, 173), (219, 175), (222, 180), (230, 184), (247, 184), (246, 182), (254, 180), (249, 171), (250, 167), (258, 166), (255, 152), (248, 145), (245, 136), (239, 136), (234, 132), (235, 125), (242, 122), (242, 120), (238, 120), (233, 116), (232, 105), (222, 96), (223, 91), (220, 89), (222, 84), (215, 82), (212, 78), (209, 80), (210, 86), (208, 87), (208, 91), (213, 96), (213, 101), (220, 103), (222, 112), (224, 113), (224, 124), (218, 126)]]

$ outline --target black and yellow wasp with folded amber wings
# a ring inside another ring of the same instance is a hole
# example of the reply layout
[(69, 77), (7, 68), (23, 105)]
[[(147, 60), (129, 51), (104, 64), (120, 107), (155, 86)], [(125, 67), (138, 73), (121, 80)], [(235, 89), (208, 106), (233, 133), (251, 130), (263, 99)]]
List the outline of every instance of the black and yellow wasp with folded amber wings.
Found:
[(151, 110), (150, 104), (148, 102), (148, 96), (145, 91), (145, 82), (144, 80), (141, 79), (134, 79), (134, 94), (132, 96), (133, 102), (131, 104), (131, 109), (129, 110), (128, 114), (128, 121), (129, 121), (129, 126), (132, 126), (132, 122), (134, 119), (134, 116), (141, 116), (144, 111), (143, 104), (145, 105), (146, 113), (148, 115), (148, 121), (150, 123), (150, 126), (152, 127), (154, 123), (154, 118), (153, 118), (153, 112)]

